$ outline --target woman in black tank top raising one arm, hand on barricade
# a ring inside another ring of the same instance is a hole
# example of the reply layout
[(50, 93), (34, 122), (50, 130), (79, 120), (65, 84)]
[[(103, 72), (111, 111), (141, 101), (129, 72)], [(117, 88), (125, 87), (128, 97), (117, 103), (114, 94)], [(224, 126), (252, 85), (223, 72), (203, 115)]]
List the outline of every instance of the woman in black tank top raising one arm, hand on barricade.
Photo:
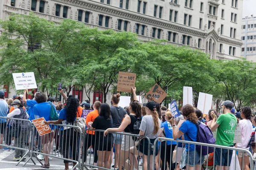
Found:
[[(109, 132), (123, 132), (125, 133), (133, 133), (134, 123), (137, 119), (141, 120), (141, 106), (138, 102), (136, 96), (136, 88), (132, 88), (134, 100), (129, 105), (130, 115), (125, 116), (122, 124), (118, 128), (108, 128), (104, 132), (104, 136), (107, 136)], [(138, 134), (136, 134), (138, 135)], [(122, 147), (120, 153), (120, 164), (118, 162), (118, 168), (128, 170), (128, 164), (125, 163), (126, 159), (129, 157), (129, 148), (134, 146), (134, 139), (132, 136), (123, 136), (122, 137)], [(125, 167), (125, 168), (124, 168)]]

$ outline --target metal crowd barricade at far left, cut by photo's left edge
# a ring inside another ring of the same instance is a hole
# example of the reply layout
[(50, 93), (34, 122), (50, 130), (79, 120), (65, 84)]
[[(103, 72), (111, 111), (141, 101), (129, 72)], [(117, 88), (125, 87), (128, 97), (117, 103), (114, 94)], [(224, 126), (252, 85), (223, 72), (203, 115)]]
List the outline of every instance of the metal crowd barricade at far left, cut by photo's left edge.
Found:
[[(30, 130), (31, 122), (27, 119), (0, 117), (0, 146), (15, 149), (15, 156), (18, 156), (18, 159), (20, 159), (16, 166), (20, 164), (20, 161), (25, 160), (26, 155), (29, 154), (29, 148), (27, 147), (29, 141), (27, 137)], [(12, 146), (12, 139), (15, 141), (14, 146)], [(22, 157), (20, 158), (20, 156)], [(34, 161), (33, 163), (35, 164)]]

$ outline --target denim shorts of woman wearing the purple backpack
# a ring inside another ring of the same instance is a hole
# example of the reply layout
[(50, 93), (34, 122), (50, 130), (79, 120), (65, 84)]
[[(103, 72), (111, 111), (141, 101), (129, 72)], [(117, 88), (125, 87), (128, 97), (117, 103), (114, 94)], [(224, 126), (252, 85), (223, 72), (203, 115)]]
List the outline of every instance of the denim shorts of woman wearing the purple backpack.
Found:
[[(195, 159), (194, 159), (195, 158)], [(189, 164), (190, 167), (195, 167), (197, 164), (204, 163), (204, 155), (198, 152), (198, 150), (191, 150), (186, 153), (186, 164)]]

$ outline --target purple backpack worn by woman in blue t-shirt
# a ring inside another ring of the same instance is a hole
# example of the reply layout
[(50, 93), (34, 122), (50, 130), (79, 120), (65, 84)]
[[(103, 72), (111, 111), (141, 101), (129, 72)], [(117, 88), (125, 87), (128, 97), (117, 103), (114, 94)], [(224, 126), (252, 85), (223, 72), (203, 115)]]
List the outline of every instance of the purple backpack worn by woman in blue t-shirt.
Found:
[[(212, 131), (208, 126), (205, 126), (201, 124), (201, 122), (198, 122), (198, 136), (197, 136), (197, 142), (200, 143), (205, 143), (205, 144), (215, 144), (216, 140), (212, 135)], [(202, 147), (202, 151), (201, 151)], [(207, 155), (207, 153), (213, 153), (214, 147), (208, 147), (208, 152), (207, 152), (207, 146), (202, 146), (202, 145), (196, 145), (196, 149), (198, 152), (200, 152), (202, 155)]]

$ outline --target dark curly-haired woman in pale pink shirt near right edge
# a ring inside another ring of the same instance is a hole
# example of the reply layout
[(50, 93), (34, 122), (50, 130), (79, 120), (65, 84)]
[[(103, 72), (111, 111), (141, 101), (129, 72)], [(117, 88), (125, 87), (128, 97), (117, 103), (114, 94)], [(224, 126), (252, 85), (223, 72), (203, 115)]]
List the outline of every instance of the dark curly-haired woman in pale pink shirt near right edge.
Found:
[[(241, 127), (241, 136), (242, 142), (237, 143), (236, 147), (249, 150), (247, 147), (248, 142), (250, 141), (250, 135), (252, 133), (252, 123), (250, 121), (252, 116), (252, 111), (248, 106), (244, 106), (241, 111), (242, 120), (239, 121), (239, 126)], [(246, 152), (238, 151), (238, 160), (240, 167), (242, 167), (243, 157), (244, 157), (244, 170), (250, 170), (249, 168), (249, 156)]]

